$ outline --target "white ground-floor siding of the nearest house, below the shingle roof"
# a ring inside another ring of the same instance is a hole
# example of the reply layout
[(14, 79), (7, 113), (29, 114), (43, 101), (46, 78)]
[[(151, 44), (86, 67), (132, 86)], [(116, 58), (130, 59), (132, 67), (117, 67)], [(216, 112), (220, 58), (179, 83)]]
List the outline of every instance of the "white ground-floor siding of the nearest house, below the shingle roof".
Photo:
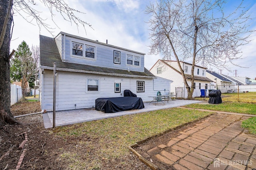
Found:
[[(164, 94), (164, 89), (170, 89), (170, 81), (162, 78), (127, 78), (118, 76), (101, 76), (97, 74), (58, 71), (56, 76), (56, 111), (84, 109), (95, 107), (97, 98), (123, 97), (124, 90), (131, 90), (143, 102), (150, 102), (158, 91)], [(53, 109), (53, 71), (44, 70), (42, 91), (42, 109)], [(100, 92), (86, 92), (88, 78), (98, 79)], [(145, 92), (136, 92), (137, 81), (144, 81)], [(114, 82), (121, 83), (121, 92), (114, 92)]]

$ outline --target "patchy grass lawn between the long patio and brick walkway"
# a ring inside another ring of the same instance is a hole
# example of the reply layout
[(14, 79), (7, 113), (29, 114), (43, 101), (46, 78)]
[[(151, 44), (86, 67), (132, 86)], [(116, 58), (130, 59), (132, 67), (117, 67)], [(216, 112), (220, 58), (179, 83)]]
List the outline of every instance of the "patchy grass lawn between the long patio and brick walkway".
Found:
[(128, 146), (210, 114), (170, 108), (56, 127), (52, 133), (74, 143), (73, 148), (60, 149), (59, 159), (68, 161), (70, 169), (100, 169), (104, 161), (125, 164), (131, 156)]

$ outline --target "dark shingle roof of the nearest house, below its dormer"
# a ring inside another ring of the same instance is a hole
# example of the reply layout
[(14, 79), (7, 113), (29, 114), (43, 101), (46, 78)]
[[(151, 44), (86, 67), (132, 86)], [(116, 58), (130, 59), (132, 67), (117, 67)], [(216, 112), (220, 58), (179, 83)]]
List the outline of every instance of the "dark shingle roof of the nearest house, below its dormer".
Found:
[(128, 71), (121, 69), (91, 66), (86, 64), (63, 62), (58, 52), (54, 38), (40, 35), (40, 68), (53, 70), (53, 63), (56, 63), (57, 70), (71, 72), (86, 72), (102, 75), (115, 75), (127, 77), (154, 78), (155, 76), (144, 68), (144, 72)]

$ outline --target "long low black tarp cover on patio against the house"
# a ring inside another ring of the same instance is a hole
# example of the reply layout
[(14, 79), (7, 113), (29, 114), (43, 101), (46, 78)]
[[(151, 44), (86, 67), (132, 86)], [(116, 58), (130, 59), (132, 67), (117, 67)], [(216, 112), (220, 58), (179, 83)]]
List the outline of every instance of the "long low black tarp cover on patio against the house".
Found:
[(105, 113), (143, 108), (142, 99), (137, 97), (98, 98), (95, 100), (95, 109)]

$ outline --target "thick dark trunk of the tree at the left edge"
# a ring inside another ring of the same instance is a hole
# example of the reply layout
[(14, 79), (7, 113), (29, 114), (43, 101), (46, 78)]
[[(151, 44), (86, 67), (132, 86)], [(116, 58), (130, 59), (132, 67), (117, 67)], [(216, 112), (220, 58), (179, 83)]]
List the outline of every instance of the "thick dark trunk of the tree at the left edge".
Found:
[[(4, 20), (8, 13), (9, 0), (0, 0), (0, 31), (4, 26)], [(0, 126), (6, 123), (18, 123), (11, 111), (11, 85), (10, 85), (10, 30), (12, 25), (12, 16), (8, 18), (8, 24), (4, 41), (0, 48)]]

